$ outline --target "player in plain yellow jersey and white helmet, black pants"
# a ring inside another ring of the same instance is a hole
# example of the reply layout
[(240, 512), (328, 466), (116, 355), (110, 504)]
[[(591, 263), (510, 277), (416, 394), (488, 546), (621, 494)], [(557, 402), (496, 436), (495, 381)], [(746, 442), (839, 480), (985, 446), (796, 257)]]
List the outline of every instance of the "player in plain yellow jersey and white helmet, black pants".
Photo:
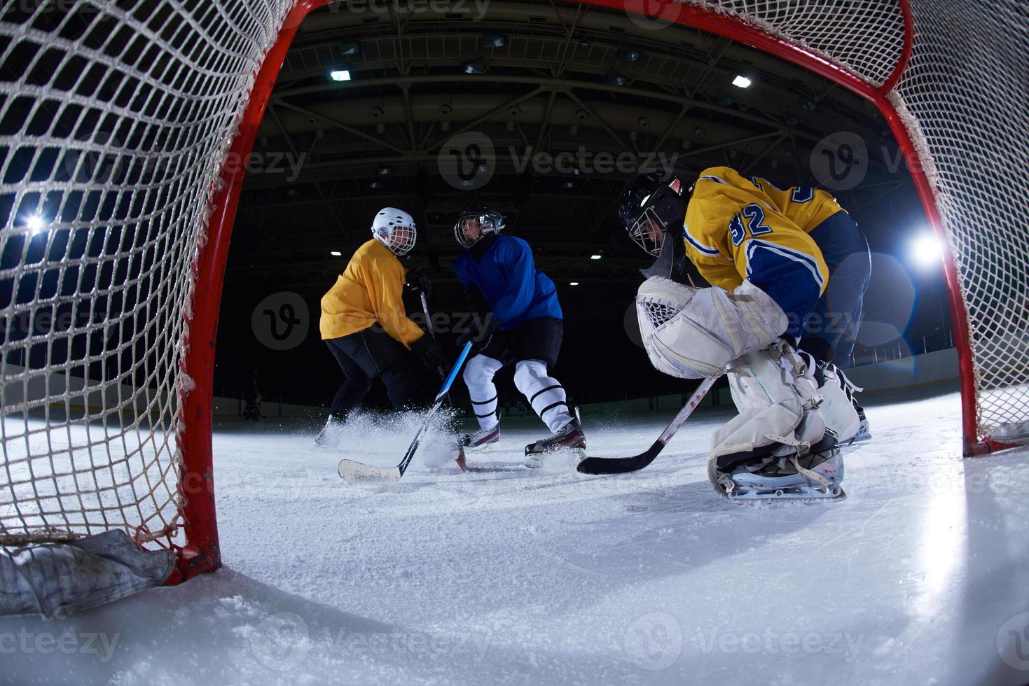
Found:
[(450, 365), (440, 345), (404, 314), (404, 269), (397, 256), (411, 252), (417, 238), (410, 214), (383, 208), (371, 223), (371, 239), (322, 296), (321, 336), (347, 378), (332, 398), (328, 422), (316, 439), (319, 445), (339, 443), (333, 428), (360, 404), (374, 378), (383, 381), (397, 409), (425, 403), (404, 348), (430, 369)]

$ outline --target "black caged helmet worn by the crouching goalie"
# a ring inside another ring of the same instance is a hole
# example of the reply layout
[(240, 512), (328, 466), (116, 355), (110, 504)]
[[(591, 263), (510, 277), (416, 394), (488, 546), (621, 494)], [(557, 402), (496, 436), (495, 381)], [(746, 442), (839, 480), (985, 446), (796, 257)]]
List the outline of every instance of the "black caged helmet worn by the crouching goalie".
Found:
[(665, 231), (682, 233), (686, 213), (682, 181), (676, 177), (663, 180), (657, 174), (641, 174), (633, 179), (618, 198), (618, 219), (629, 238), (650, 255), (661, 252)]

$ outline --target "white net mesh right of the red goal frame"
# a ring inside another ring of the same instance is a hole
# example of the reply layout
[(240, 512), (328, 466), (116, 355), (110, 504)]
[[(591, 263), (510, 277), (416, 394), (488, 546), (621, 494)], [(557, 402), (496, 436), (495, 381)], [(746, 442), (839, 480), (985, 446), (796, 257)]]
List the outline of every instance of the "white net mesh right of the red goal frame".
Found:
[[(903, 45), (899, 0), (683, 0), (736, 16), (887, 81)], [(919, 147), (955, 255), (974, 357), (978, 439), (1029, 421), (1029, 5), (911, 0), (910, 66), (891, 96)], [(1022, 440), (1025, 440), (1024, 438)]]

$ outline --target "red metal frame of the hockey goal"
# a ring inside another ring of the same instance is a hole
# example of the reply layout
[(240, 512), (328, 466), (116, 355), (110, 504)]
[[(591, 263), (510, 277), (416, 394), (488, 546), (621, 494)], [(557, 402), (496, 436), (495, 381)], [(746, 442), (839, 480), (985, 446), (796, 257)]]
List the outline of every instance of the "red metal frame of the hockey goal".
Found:
[[(573, 2), (574, 0), (567, 1)], [(944, 277), (947, 281), (948, 302), (961, 374), (964, 454), (966, 456), (981, 455), (1008, 446), (978, 435), (972, 351), (969, 345), (968, 321), (960, 295), (954, 256), (941, 220), (932, 187), (923, 170), (915, 142), (901, 117), (887, 98), (887, 94), (900, 80), (908, 66), (915, 40), (914, 21), (909, 1), (898, 1), (906, 27), (903, 49), (893, 73), (879, 87), (866, 83), (820, 56), (765, 33), (739, 19), (685, 4), (677, 5), (675, 11), (676, 21), (679, 24), (693, 26), (765, 50), (792, 64), (805, 67), (864, 97), (874, 103), (886, 118), (903, 152), (928, 222), (944, 246)], [(245, 159), (251, 152), (257, 129), (264, 115), (279, 71), (298, 27), (310, 12), (330, 2), (331, 0), (297, 0), (288, 12), (274, 46), (265, 55), (257, 73), (249, 103), (243, 113), (240, 131), (229, 149), (229, 159)], [(670, 0), (578, 0), (578, 2), (651, 16), (654, 15), (654, 10), (661, 6), (674, 4)], [(178, 436), (184, 456), (179, 488), (187, 496), (187, 504), (183, 510), (187, 543), (180, 550), (178, 569), (169, 583), (178, 583), (197, 574), (212, 571), (221, 564), (214, 507), (211, 437), (215, 339), (225, 260), (228, 254), (236, 210), (239, 206), (244, 172), (245, 170), (238, 165), (223, 167), (220, 175), (221, 183), (216, 186), (218, 190), (213, 192), (211, 197), (212, 215), (206, 242), (200, 246), (194, 264), (197, 282), (192, 315), (189, 321), (190, 345), (181, 366), (182, 371), (193, 380), (196, 387), (186, 395), (180, 410), (185, 428)]]

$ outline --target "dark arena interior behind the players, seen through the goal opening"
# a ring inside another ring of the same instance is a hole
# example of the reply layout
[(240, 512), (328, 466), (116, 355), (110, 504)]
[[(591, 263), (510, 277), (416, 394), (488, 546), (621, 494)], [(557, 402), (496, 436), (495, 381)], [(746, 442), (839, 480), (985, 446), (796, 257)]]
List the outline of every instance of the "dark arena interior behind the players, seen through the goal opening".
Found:
[[(243, 398), (256, 369), (265, 400), (327, 405), (342, 372), (318, 335), (319, 299), (384, 206), (415, 217), (418, 245), (403, 261), (429, 270), (437, 326), (459, 326), (469, 302), (452, 269), (453, 224), (472, 204), (501, 210), (505, 232), (526, 239), (557, 284), (557, 372), (575, 401), (688, 390), (627, 332), (650, 258), (618, 223), (616, 201), (640, 171), (693, 180), (715, 166), (826, 187), (865, 231), (874, 279), (855, 363), (953, 346), (933, 239), (876, 108), (691, 27), (655, 31), (625, 11), (561, 2), (329, 5), (299, 27), (241, 164), (218, 395)], [(274, 350), (261, 342), (273, 325), (284, 339), (290, 327), (307, 333), (290, 328), (290, 347)], [(499, 381), (516, 402), (510, 374)], [(369, 402), (388, 406), (381, 385)]]

